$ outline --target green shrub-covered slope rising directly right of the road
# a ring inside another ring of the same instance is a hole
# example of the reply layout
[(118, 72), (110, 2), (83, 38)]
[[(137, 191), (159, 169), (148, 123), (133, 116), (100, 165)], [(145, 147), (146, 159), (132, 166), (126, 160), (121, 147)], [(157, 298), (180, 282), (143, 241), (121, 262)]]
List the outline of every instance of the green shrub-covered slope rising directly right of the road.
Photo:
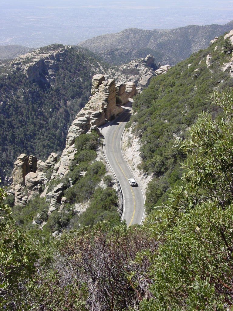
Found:
[[(215, 46), (218, 47), (214, 51)], [(223, 62), (231, 58), (229, 53), (221, 53), (222, 47), (227, 49), (221, 37), (208, 49), (169, 69), (166, 75), (154, 77), (149, 87), (135, 97), (133, 108), (137, 114), (130, 124), (136, 122), (134, 132), (142, 142), (140, 168), (154, 177), (147, 188), (148, 212), (155, 205), (166, 203), (167, 190), (180, 183), (179, 163), (185, 156), (175, 147), (175, 138), (185, 137), (201, 111), (210, 110), (216, 116), (219, 108), (207, 97), (213, 89), (221, 91), (233, 85), (229, 73), (221, 71)], [(209, 53), (212, 60), (207, 68)]]

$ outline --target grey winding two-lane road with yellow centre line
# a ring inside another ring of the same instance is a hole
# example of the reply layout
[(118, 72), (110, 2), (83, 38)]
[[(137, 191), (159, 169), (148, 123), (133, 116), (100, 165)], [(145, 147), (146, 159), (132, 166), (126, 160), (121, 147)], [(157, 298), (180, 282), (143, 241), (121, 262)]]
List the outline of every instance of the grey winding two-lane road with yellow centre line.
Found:
[(125, 125), (131, 117), (131, 104), (129, 102), (126, 106), (122, 106), (124, 111), (115, 120), (102, 127), (102, 133), (105, 137), (103, 151), (121, 185), (124, 201), (122, 220), (125, 219), (128, 226), (140, 224), (144, 216), (144, 196), (142, 190), (139, 186), (131, 187), (128, 183), (128, 179), (134, 178), (134, 175), (121, 151), (121, 137)]

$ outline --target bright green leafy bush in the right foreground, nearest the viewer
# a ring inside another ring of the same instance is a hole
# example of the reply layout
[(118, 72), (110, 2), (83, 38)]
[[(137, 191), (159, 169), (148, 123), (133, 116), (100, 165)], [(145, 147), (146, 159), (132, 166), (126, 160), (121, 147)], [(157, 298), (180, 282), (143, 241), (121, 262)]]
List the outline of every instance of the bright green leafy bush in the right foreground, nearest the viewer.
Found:
[(233, 96), (213, 96), (224, 110), (200, 115), (180, 148), (183, 185), (155, 212), (149, 228), (165, 242), (151, 260), (152, 299), (141, 310), (226, 310), (232, 305)]

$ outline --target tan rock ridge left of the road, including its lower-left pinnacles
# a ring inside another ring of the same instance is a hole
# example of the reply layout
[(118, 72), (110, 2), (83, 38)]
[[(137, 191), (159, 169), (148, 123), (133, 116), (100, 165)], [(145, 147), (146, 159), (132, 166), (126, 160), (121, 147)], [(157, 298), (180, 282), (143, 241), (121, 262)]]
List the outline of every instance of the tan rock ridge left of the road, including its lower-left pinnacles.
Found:
[[(125, 86), (124, 89), (126, 89)], [(62, 202), (62, 195), (66, 186), (60, 182), (48, 191), (49, 181), (60, 180), (70, 172), (72, 161), (77, 152), (74, 143), (75, 138), (83, 133), (99, 132), (98, 126), (110, 121), (123, 110), (121, 103), (117, 102), (117, 90), (114, 79), (105, 81), (104, 75), (101, 74), (93, 77), (92, 96), (71, 124), (66, 138), (66, 147), (59, 161), (56, 153), (52, 153), (45, 162), (26, 154), (21, 154), (17, 158), (12, 172), (12, 184), (8, 189), (8, 193), (15, 196), (15, 205), (25, 206), (27, 202), (41, 194), (41, 197), (46, 197), (50, 201), (48, 214), (57, 209), (57, 203)], [(125, 99), (129, 99), (129, 96), (135, 94), (135, 85), (129, 92), (122, 93)], [(53, 171), (50, 177), (47, 174), (48, 170)], [(43, 187), (45, 187), (44, 191)], [(65, 199), (63, 199), (63, 203), (64, 201)]]

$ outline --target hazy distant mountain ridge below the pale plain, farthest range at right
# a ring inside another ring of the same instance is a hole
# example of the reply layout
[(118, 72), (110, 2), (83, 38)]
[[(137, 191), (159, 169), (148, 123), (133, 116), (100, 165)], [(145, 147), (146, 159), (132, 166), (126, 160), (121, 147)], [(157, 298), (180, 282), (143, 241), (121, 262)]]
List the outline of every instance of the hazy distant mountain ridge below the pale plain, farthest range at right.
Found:
[(225, 25), (189, 25), (170, 30), (129, 28), (83, 41), (79, 45), (116, 65), (127, 63), (135, 56), (144, 58), (148, 52), (155, 56), (157, 63), (174, 65), (207, 48), (210, 40), (232, 28), (233, 21)]

